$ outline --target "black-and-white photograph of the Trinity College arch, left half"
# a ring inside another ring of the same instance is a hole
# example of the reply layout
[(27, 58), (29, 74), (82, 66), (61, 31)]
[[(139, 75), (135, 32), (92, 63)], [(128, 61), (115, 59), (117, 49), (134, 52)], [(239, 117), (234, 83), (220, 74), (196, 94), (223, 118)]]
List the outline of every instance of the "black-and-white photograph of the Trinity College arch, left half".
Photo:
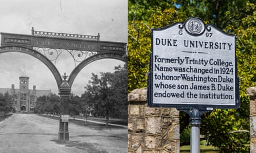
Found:
[(127, 152), (127, 0), (0, 2), (0, 152)]

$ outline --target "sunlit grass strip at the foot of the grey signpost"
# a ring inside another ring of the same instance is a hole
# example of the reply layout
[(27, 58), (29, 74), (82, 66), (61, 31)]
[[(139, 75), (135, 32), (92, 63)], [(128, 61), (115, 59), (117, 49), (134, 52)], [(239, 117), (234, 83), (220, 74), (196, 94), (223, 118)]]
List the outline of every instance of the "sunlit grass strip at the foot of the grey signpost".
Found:
[[(190, 153), (190, 146), (182, 146), (179, 152)], [(200, 153), (219, 153), (218, 148), (213, 146), (200, 145)]]

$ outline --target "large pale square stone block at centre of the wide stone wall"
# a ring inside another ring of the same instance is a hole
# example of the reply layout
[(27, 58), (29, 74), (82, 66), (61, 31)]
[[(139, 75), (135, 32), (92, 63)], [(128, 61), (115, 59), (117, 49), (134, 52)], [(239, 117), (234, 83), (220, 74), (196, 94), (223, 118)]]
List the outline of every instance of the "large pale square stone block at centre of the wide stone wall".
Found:
[(161, 134), (161, 116), (146, 117), (146, 133)]

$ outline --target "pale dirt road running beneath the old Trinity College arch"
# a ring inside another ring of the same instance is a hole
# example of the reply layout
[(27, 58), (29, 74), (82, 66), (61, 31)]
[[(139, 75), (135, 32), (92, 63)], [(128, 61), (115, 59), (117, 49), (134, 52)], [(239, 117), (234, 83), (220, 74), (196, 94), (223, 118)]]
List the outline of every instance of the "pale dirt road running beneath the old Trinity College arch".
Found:
[(14, 114), (0, 122), (0, 152), (127, 152), (127, 129), (91, 130), (68, 125), (70, 141), (60, 143), (58, 120)]

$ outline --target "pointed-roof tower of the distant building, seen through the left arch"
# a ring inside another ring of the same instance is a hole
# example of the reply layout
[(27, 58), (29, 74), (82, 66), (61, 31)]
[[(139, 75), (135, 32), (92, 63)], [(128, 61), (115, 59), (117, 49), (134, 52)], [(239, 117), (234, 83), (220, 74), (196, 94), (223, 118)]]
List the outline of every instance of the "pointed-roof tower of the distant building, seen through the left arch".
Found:
[(29, 77), (25, 72), (20, 76), (20, 104), (18, 104), (18, 111), (25, 111), (28, 112), (28, 101), (29, 101), (29, 89), (28, 89)]

